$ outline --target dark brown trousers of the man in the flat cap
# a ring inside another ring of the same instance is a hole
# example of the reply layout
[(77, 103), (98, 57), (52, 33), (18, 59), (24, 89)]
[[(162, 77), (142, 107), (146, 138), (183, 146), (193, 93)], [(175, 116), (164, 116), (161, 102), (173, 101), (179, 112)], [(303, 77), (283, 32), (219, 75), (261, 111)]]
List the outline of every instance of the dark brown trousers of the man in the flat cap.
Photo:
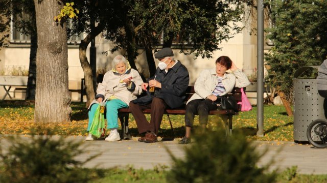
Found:
[[(144, 132), (150, 131), (155, 134), (158, 134), (162, 116), (164, 116), (165, 109), (167, 108), (167, 104), (164, 100), (154, 97), (152, 99), (152, 102), (147, 105), (139, 105), (134, 104), (133, 102), (129, 103), (129, 109), (131, 110), (131, 113), (133, 114), (137, 130), (139, 134), (142, 134)], [(145, 115), (143, 114), (143, 109), (151, 109), (151, 119), (150, 123), (146, 119)]]

